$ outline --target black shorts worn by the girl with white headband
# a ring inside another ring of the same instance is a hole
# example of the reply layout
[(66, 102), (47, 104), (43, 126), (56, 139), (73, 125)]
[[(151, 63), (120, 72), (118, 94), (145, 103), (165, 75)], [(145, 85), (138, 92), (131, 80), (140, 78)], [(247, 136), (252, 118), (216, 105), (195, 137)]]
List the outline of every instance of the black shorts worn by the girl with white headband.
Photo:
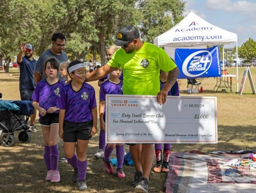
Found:
[(69, 121), (64, 121), (63, 141), (76, 142), (77, 139), (88, 140), (92, 138), (92, 125), (92, 120), (83, 123), (73, 123)]

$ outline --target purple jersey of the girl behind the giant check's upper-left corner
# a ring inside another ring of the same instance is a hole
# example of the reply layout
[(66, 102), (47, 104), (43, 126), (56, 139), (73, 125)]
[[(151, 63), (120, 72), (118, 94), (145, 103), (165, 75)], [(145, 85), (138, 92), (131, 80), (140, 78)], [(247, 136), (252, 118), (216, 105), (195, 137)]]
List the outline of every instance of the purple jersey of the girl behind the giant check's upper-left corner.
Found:
[[(102, 83), (100, 85), (100, 101), (105, 101), (106, 100), (106, 94), (123, 94), (123, 81), (120, 80), (120, 83), (116, 84), (109, 79)], [(105, 117), (105, 111), (106, 111), (106, 106), (104, 109), (104, 117)]]

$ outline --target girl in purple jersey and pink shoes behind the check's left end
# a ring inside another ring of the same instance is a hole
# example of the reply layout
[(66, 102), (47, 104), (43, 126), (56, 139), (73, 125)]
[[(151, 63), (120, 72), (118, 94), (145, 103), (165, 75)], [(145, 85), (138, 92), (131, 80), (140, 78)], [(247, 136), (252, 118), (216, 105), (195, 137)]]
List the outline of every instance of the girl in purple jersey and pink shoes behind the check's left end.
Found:
[[(123, 81), (119, 79), (122, 73), (121, 69), (112, 71), (107, 81), (100, 85), (100, 129), (105, 131), (105, 99), (106, 94), (123, 94)], [(110, 154), (116, 148), (117, 153), (117, 177), (124, 178), (125, 173), (123, 172), (123, 160), (124, 160), (124, 144), (123, 143), (109, 143), (104, 148), (103, 163), (104, 168), (110, 174), (114, 172), (112, 164), (110, 163)]]

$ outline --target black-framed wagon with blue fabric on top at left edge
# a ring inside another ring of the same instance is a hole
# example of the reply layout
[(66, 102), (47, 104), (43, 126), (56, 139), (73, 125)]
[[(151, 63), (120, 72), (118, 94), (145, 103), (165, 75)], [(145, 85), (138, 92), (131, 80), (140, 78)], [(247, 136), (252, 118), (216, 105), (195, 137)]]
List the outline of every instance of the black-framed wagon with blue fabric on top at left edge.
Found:
[(17, 130), (23, 130), (19, 133), (20, 142), (31, 141), (27, 122), (33, 113), (32, 101), (0, 100), (0, 135), (2, 132), (6, 133), (2, 136), (4, 146), (13, 146), (15, 143), (14, 132)]

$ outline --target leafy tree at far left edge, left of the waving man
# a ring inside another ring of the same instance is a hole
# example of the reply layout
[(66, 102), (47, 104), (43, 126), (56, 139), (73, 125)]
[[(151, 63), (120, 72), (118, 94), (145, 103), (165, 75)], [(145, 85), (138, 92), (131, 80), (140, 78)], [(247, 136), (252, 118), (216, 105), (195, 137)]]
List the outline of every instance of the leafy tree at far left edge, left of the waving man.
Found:
[(11, 59), (19, 51), (20, 41), (33, 33), (33, 21), (26, 19), (31, 15), (30, 8), (21, 0), (2, 0), (0, 4), (0, 57), (6, 61), (6, 72)]

